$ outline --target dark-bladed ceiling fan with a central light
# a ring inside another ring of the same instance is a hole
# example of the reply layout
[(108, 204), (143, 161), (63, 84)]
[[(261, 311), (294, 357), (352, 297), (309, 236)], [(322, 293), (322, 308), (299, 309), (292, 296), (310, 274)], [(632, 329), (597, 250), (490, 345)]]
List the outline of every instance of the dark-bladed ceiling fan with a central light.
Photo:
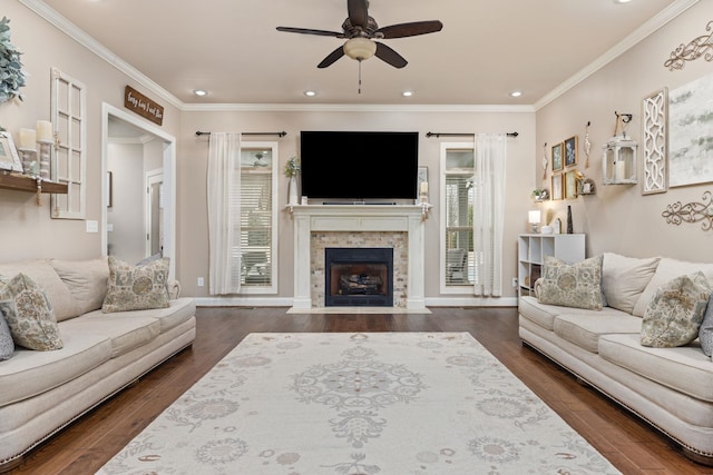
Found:
[(309, 28), (292, 27), (277, 27), (277, 31), (346, 38), (346, 42), (329, 53), (326, 58), (318, 65), (318, 68), (326, 68), (344, 55), (358, 60), (359, 62), (375, 56), (394, 68), (403, 68), (408, 65), (408, 61), (403, 59), (401, 55), (384, 43), (374, 40), (434, 33), (443, 28), (443, 23), (438, 20), (413, 21), (410, 23), (399, 23), (379, 28), (377, 21), (369, 16), (368, 8), (368, 0), (346, 0), (349, 17), (346, 17), (344, 23), (342, 23), (342, 31), (313, 30)]

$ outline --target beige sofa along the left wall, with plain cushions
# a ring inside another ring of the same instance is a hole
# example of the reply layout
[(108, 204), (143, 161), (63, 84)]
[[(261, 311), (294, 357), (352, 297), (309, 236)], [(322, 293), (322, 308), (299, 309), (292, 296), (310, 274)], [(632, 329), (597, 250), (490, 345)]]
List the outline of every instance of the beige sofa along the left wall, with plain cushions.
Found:
[(0, 360), (0, 472), (195, 339), (195, 304), (177, 283), (166, 308), (104, 313), (107, 258), (0, 265), (6, 280), (19, 273), (45, 291), (62, 347), (16, 345)]

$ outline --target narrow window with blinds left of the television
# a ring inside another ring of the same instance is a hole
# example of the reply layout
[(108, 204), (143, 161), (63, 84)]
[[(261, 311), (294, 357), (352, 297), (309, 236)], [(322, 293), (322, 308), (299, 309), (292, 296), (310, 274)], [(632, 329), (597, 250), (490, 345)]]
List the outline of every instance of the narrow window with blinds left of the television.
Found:
[(233, 269), (241, 293), (276, 293), (277, 144), (243, 142), (240, 164), (240, 266)]

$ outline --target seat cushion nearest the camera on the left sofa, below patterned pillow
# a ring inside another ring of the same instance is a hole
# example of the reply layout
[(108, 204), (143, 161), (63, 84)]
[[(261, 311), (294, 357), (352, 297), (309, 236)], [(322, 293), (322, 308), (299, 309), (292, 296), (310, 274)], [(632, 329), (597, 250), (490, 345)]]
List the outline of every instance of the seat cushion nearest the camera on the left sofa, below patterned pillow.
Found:
[[(71, 320), (70, 320), (71, 321)], [(0, 364), (0, 407), (61, 386), (111, 357), (111, 340), (92, 331), (72, 331), (59, 323), (64, 347), (56, 352), (17, 348)], [(0, 420), (0, 433), (4, 420)]]

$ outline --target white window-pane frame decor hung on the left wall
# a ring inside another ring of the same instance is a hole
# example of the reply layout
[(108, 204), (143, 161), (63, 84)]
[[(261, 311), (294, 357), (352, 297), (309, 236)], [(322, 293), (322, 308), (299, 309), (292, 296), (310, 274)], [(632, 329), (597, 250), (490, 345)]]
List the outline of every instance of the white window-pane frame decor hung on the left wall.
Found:
[(51, 70), (50, 117), (55, 131), (52, 181), (67, 185), (67, 195), (51, 195), (52, 218), (86, 218), (86, 89), (57, 68)]

